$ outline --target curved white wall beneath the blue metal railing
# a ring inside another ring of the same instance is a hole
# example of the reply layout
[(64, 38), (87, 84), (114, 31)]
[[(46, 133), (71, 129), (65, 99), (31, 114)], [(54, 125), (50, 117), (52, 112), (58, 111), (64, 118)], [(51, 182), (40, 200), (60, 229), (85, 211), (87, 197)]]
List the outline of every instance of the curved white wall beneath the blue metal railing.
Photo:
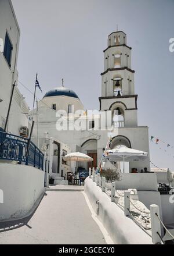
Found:
[(0, 221), (18, 219), (31, 213), (44, 194), (43, 170), (32, 166), (0, 163)]

